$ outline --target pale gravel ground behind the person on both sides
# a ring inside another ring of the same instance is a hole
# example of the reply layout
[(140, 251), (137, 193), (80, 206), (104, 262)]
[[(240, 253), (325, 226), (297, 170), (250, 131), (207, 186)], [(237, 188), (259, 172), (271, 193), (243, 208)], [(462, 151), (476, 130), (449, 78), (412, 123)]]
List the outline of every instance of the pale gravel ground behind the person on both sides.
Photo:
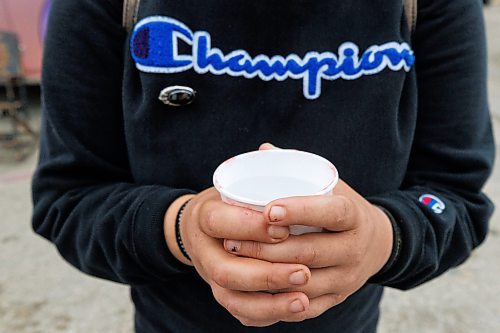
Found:
[[(500, 0), (485, 14), (490, 105), (500, 143)], [(33, 114), (36, 123), (37, 110)], [(83, 275), (31, 231), (29, 180), (36, 156), (13, 163), (1, 158), (5, 154), (0, 150), (0, 333), (131, 333), (128, 288)], [(499, 185), (497, 163), (486, 187), (497, 205)], [(500, 332), (499, 211), (488, 239), (464, 265), (411, 291), (387, 290), (380, 332)]]

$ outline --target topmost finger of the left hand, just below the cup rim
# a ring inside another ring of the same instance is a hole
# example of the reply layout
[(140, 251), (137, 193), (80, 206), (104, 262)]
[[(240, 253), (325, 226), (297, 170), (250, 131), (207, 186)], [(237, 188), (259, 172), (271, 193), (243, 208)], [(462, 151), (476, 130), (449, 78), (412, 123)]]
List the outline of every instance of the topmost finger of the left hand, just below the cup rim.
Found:
[(287, 226), (270, 226), (262, 213), (228, 205), (220, 200), (206, 202), (200, 211), (200, 228), (214, 238), (276, 243), (289, 235)]

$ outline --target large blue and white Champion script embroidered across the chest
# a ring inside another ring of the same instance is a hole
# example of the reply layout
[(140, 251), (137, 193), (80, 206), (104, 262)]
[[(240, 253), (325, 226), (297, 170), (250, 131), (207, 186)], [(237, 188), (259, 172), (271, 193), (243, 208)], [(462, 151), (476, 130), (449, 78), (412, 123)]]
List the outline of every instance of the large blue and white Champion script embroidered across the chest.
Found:
[[(191, 52), (180, 54), (179, 41), (191, 46)], [(303, 93), (308, 99), (321, 95), (322, 80), (354, 80), (388, 68), (409, 72), (415, 56), (407, 43), (388, 42), (373, 45), (360, 55), (359, 48), (345, 42), (338, 53), (310, 51), (304, 57), (290, 54), (252, 57), (245, 50), (224, 54), (212, 47), (212, 37), (206, 31), (192, 32), (182, 22), (152, 16), (139, 21), (130, 39), (136, 67), (148, 73), (179, 73), (193, 69), (199, 74), (243, 76), (248, 79), (303, 81)]]

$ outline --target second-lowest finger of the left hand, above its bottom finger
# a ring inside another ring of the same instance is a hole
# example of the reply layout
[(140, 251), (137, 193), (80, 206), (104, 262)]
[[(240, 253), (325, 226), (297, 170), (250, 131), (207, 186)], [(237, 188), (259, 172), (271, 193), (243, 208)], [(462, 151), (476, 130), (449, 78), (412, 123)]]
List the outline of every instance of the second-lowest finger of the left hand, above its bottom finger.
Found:
[(304, 265), (270, 263), (236, 256), (212, 263), (208, 269), (211, 279), (219, 286), (240, 291), (291, 288), (306, 284), (311, 277), (311, 271)]

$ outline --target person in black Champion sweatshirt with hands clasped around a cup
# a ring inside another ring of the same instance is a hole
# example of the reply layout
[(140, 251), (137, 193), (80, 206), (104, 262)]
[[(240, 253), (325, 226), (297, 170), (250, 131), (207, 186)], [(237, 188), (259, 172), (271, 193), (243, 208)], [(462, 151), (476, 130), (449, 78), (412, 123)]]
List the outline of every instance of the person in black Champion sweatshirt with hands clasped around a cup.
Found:
[[(480, 2), (421, 0), (413, 34), (400, 1), (143, 1), (130, 32), (122, 5), (53, 2), (33, 227), (131, 286), (137, 332), (374, 332), (385, 286), (484, 240)], [(271, 144), (333, 195), (222, 202), (217, 165)]]

